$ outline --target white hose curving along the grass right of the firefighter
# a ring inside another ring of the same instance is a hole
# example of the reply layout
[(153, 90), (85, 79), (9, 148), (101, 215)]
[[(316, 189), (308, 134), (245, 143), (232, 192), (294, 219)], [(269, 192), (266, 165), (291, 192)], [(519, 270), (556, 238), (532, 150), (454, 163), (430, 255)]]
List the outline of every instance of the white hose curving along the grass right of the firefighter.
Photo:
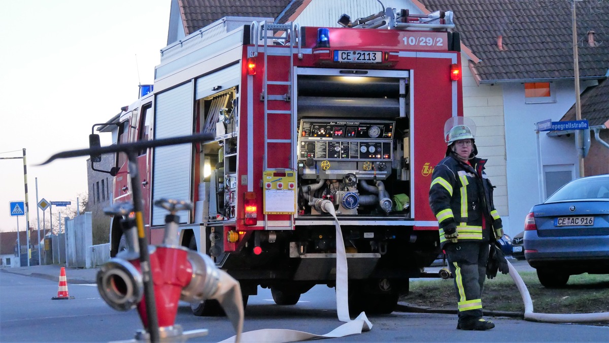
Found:
[(583, 322), (606, 322), (609, 320), (609, 312), (598, 312), (598, 313), (578, 313), (578, 314), (549, 314), (549, 313), (535, 313), (533, 312), (533, 301), (529, 294), (526, 284), (524, 284), (523, 278), (520, 277), (516, 269), (507, 261), (507, 265), (510, 269), (510, 276), (518, 287), (521, 297), (524, 302), (524, 319), (530, 320), (531, 322), (546, 322), (546, 323), (583, 323)]

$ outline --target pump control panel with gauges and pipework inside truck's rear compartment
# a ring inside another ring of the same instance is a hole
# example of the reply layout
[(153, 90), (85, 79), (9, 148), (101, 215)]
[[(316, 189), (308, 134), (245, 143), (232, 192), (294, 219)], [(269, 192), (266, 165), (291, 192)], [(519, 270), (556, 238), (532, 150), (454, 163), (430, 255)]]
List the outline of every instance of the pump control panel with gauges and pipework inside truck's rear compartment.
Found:
[[(390, 179), (395, 121), (304, 118), (298, 129), (300, 215), (320, 215), (317, 204), (330, 200), (340, 215), (396, 212), (392, 194), (406, 187)], [(396, 146), (397, 148), (397, 146)], [(401, 212), (403, 209), (397, 209)]]

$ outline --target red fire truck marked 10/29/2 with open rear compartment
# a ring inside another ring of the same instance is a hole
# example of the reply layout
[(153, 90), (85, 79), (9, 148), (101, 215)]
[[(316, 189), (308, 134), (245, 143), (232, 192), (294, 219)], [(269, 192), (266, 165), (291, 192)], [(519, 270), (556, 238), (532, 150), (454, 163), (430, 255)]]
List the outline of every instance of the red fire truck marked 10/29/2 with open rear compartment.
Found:
[[(167, 46), (153, 92), (120, 115), (117, 143), (214, 137), (139, 153), (150, 243), (166, 214), (151, 200), (192, 201), (178, 213), (181, 245), (211, 256), (244, 297), (269, 287), (288, 305), (335, 285), (342, 239), (350, 308), (391, 312), (440, 252), (428, 190), (443, 124), (463, 115), (460, 38), (451, 12), (340, 22), (227, 17)], [(114, 201), (127, 201), (124, 157), (116, 168)]]

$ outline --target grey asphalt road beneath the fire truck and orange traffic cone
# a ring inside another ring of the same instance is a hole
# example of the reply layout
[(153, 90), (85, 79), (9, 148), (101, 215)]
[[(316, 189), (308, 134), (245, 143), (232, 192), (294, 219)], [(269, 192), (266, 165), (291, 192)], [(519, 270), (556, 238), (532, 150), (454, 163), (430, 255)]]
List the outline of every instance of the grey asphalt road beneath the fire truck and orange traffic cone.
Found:
[[(68, 278), (78, 273), (66, 271)], [(0, 342), (108, 342), (132, 339), (142, 328), (135, 310), (114, 311), (93, 284), (69, 284), (72, 300), (51, 300), (57, 290), (54, 280), (0, 272)], [(342, 324), (335, 306), (334, 289), (325, 286), (303, 294), (294, 306), (274, 305), (269, 290), (259, 289), (245, 310), (244, 331), (275, 328), (326, 334)], [(497, 327), (484, 332), (456, 330), (454, 314), (393, 312), (369, 319), (371, 331), (331, 341), (606, 342), (609, 334), (607, 327), (534, 323), (509, 317), (491, 318)], [(176, 322), (184, 330), (209, 330), (207, 336), (189, 342), (218, 342), (234, 335), (225, 317), (192, 316), (187, 303), (180, 303)]]

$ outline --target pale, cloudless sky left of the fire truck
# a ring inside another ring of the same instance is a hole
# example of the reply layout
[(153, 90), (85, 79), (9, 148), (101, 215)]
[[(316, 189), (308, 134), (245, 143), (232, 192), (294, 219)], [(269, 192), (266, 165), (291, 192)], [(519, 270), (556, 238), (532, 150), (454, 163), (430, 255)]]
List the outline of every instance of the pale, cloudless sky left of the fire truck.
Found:
[[(30, 223), (38, 200), (88, 193), (86, 157), (37, 167), (59, 151), (88, 146), (95, 123), (133, 103), (152, 84), (167, 43), (171, 0), (0, 0), (0, 158), (26, 149)], [(102, 136), (102, 145), (110, 137)], [(11, 217), (24, 201), (23, 159), (0, 159), (0, 231), (26, 228)], [(53, 209), (54, 217), (58, 209)], [(40, 211), (42, 222), (43, 212)], [(46, 210), (49, 217), (49, 209)], [(17, 219), (18, 218), (18, 219)], [(48, 229), (48, 228), (47, 228)]]

